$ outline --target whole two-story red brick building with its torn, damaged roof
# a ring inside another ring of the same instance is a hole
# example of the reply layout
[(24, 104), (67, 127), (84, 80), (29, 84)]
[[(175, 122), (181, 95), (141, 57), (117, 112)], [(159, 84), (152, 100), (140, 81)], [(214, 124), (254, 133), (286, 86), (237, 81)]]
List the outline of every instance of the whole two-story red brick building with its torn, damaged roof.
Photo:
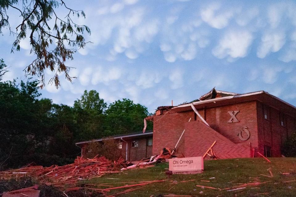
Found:
[(180, 139), (176, 154), (203, 156), (216, 141), (213, 151), (226, 159), (256, 157), (257, 152), (281, 157), (282, 143), (295, 132), (295, 117), (294, 106), (265, 91), (212, 89), (194, 102), (158, 107), (146, 119), (154, 124), (153, 155), (163, 147), (174, 148)]

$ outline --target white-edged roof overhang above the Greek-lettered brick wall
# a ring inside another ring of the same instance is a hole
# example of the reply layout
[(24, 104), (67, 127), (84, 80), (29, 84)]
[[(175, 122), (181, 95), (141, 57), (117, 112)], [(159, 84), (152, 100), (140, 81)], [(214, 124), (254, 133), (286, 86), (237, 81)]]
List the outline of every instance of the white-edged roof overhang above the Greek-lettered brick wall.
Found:
[[(251, 92), (246, 94), (236, 94), (233, 96), (213, 98), (213, 99), (193, 102), (192, 104), (196, 107), (196, 109), (202, 109), (202, 108), (209, 108), (209, 107), (217, 107), (221, 105), (228, 105), (233, 103), (242, 103), (242, 102), (252, 101), (252, 100), (258, 100), (280, 111), (284, 111), (285, 113), (290, 114), (294, 117), (296, 115), (295, 106), (265, 91), (257, 91), (257, 92)], [(191, 108), (191, 104), (188, 103), (188, 104), (174, 107), (171, 110), (174, 112), (182, 112), (182, 111), (190, 111), (192, 110), (192, 108)]]

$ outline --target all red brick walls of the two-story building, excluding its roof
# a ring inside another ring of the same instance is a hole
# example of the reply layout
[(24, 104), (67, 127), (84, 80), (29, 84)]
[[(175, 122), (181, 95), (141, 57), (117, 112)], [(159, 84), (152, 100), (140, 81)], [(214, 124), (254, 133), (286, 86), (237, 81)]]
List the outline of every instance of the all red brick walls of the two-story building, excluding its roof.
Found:
[[(215, 107), (198, 109), (199, 114), (209, 124), (209, 127), (193, 110), (174, 112), (169, 110), (163, 115), (154, 116), (153, 155), (164, 147), (174, 148), (183, 130), (176, 154), (185, 157), (202, 156), (216, 140), (213, 147), (218, 158), (251, 157), (252, 148), (265, 153), (265, 146), (271, 147), (271, 156), (281, 156), (282, 143), (295, 131), (294, 117), (285, 114), (285, 126), (280, 125), (280, 111), (269, 106), (269, 120), (264, 119), (263, 104), (257, 100), (240, 103), (223, 104)], [(231, 115), (228, 111), (239, 111), (236, 119), (239, 122), (228, 123)], [(191, 121), (188, 123), (188, 120)], [(249, 138), (243, 128), (249, 131)]]

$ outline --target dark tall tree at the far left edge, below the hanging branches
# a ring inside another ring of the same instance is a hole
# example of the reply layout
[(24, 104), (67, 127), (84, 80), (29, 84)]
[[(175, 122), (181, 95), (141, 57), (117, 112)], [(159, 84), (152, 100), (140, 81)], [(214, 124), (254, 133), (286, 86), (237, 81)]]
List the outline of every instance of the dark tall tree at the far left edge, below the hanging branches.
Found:
[[(34, 153), (35, 131), (40, 125), (38, 82), (0, 82), (0, 161), (10, 166), (27, 163), (25, 155)], [(17, 162), (17, 163), (16, 163)]]

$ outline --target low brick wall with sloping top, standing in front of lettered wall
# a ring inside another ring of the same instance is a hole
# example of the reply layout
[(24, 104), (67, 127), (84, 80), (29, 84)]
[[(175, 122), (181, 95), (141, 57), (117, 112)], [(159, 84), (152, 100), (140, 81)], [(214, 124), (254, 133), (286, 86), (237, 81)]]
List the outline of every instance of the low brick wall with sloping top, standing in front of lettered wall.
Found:
[[(250, 143), (233, 143), (232, 141), (200, 121), (192, 121), (186, 123), (184, 139), (185, 157), (203, 156), (214, 141), (216, 141), (216, 143), (213, 146), (212, 150), (216, 153), (219, 159), (251, 156)], [(207, 155), (205, 159), (210, 158)]]

